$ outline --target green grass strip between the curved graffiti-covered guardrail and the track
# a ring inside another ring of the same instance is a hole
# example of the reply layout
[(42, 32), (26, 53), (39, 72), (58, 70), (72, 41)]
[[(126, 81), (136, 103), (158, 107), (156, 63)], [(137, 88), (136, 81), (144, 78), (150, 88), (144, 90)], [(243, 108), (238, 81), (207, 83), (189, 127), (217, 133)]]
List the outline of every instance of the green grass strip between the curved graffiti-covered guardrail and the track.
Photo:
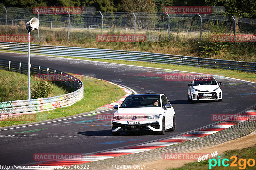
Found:
[(76, 102), (72, 106), (36, 113), (35, 121), (0, 121), (0, 127), (17, 124), (28, 124), (32, 122), (55, 119), (59, 117), (67, 117), (79, 113), (92, 111), (105, 104), (115, 102), (126, 94), (121, 88), (98, 79), (83, 78), (83, 83), (84, 98), (81, 101)]

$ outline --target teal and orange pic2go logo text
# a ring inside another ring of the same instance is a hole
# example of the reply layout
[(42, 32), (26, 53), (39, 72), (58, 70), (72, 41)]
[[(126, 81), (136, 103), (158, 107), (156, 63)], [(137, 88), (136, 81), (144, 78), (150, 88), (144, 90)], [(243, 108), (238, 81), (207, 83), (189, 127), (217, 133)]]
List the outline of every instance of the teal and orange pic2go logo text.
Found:
[[(223, 159), (222, 161), (220, 160), (220, 156), (218, 156), (218, 166), (220, 167), (222, 164), (222, 166), (229, 166), (229, 159)], [(237, 157), (236, 156), (231, 156), (230, 159), (234, 159), (234, 161), (230, 164), (230, 166), (234, 166), (236, 167), (237, 164), (236, 164), (236, 161), (237, 161)], [(213, 162), (214, 163), (213, 163)], [(213, 164), (212, 164), (213, 163)], [(248, 164), (248, 166), (254, 166), (255, 165), (255, 160), (254, 159), (248, 159), (246, 161), (246, 159), (239, 159), (238, 160), (238, 165), (239, 165), (239, 169), (245, 169), (246, 168), (246, 163)], [(217, 165), (217, 160), (216, 159), (209, 159), (209, 169), (212, 169), (212, 167), (216, 166)]]

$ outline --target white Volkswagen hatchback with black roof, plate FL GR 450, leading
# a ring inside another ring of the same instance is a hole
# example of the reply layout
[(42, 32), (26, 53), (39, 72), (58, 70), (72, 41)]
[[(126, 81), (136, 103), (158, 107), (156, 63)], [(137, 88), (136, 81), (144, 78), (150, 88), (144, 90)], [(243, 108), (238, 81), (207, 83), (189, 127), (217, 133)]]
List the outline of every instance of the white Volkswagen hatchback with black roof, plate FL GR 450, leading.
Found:
[(175, 112), (164, 94), (133, 94), (127, 96), (118, 107), (111, 120), (112, 135), (120, 132), (155, 131), (165, 134), (165, 130), (175, 131)]

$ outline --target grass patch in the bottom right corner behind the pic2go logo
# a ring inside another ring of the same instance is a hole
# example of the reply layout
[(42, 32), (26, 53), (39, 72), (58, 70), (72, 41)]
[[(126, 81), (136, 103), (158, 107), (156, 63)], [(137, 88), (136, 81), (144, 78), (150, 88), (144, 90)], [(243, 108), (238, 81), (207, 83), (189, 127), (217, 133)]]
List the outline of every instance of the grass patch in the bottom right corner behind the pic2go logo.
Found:
[[(225, 151), (225, 158), (228, 159), (229, 161), (225, 161), (225, 164), (229, 164), (227, 167), (222, 165), (222, 160), (224, 158), (220, 158), (220, 166), (218, 164), (218, 158), (216, 158), (216, 162), (217, 164), (215, 166), (213, 166), (211, 169), (218, 169), (218, 170), (237, 170), (237, 169), (255, 169), (255, 160), (256, 160), (256, 146), (253, 147), (248, 147), (248, 148), (244, 148), (241, 150), (230, 150), (230, 151)], [(236, 156), (237, 159), (235, 159), (235, 157), (232, 156)], [(243, 160), (240, 160), (243, 159)], [(245, 159), (245, 160), (244, 160)], [(250, 165), (253, 166), (249, 166), (248, 165), (248, 160), (250, 160)], [(254, 161), (252, 161), (252, 159)], [(233, 162), (234, 166), (231, 166), (231, 163)], [(253, 164), (254, 162), (254, 164)], [(200, 169), (200, 170), (209, 170), (209, 160), (204, 160), (201, 162), (192, 162), (192, 163), (188, 163), (185, 164), (184, 166), (180, 167), (180, 168), (172, 168), (169, 170), (196, 170), (196, 169)], [(214, 161), (212, 161), (212, 165), (214, 165)]]

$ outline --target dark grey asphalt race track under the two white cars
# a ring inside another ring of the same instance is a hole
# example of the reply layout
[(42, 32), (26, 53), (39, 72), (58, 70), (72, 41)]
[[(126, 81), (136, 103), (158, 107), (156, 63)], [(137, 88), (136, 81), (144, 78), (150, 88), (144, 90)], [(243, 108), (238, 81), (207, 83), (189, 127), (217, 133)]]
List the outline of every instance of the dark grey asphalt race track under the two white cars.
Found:
[[(27, 54), (0, 53), (0, 58), (28, 62)], [(0, 131), (1, 165), (36, 164), (38, 162), (33, 160), (35, 153), (89, 154), (147, 143), (215, 123), (211, 120), (212, 114), (236, 114), (256, 103), (256, 84), (224, 77), (215, 76), (223, 83), (220, 85), (222, 102), (191, 104), (187, 100), (188, 83), (191, 82), (189, 73), (39, 55), (31, 55), (31, 63), (94, 76), (127, 86), (137, 93), (164, 93), (176, 113), (176, 131), (168, 131), (165, 135), (121, 133), (121, 136), (112, 136), (111, 122), (98, 121), (97, 115), (7, 129)], [(179, 78), (178, 74), (185, 76)], [(164, 80), (166, 75), (173, 77)], [(113, 110), (103, 113), (113, 113)]]

